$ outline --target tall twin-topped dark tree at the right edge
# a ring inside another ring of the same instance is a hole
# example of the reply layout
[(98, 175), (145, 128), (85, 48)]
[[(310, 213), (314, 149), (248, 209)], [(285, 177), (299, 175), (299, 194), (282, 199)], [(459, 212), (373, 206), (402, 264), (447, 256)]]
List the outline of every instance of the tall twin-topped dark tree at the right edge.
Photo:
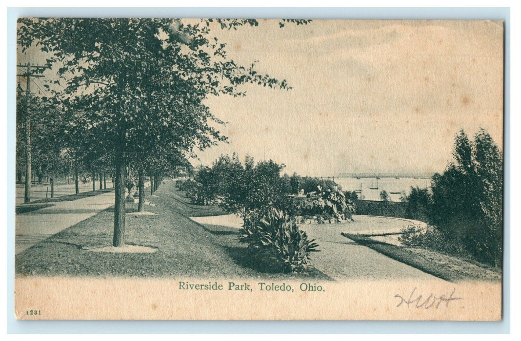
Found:
[[(483, 129), (470, 141), (455, 137), (454, 162), (432, 178), (432, 222), (478, 259), (502, 256), (503, 155)], [(411, 201), (411, 200), (410, 200)]]

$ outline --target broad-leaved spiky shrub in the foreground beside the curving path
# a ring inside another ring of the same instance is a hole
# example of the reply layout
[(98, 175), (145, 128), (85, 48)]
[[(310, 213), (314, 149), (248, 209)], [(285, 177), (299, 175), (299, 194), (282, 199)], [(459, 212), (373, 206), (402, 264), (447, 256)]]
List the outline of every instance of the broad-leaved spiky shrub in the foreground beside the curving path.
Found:
[(249, 211), (243, 212), (243, 218), (240, 241), (268, 259), (272, 270), (303, 272), (309, 254), (319, 251), (315, 239), (309, 240), (287, 213), (272, 209), (261, 218), (259, 211)]

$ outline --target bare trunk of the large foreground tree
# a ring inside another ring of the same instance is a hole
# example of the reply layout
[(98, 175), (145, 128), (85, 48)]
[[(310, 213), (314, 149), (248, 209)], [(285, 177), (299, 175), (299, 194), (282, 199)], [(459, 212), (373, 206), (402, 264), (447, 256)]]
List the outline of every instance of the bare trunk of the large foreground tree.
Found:
[(115, 179), (114, 205), (114, 239), (112, 245), (115, 247), (125, 246), (125, 164), (121, 156), (116, 156), (116, 179)]

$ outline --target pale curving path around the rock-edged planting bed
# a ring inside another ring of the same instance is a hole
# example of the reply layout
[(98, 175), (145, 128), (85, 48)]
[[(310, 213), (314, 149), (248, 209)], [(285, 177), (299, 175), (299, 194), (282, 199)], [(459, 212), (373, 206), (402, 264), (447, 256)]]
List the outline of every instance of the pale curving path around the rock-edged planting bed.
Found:
[[(312, 265), (335, 280), (439, 280), (438, 277), (391, 259), (341, 235), (348, 233), (393, 233), (415, 221), (388, 217), (353, 216), (354, 221), (342, 224), (301, 225), (310, 238), (320, 245), (320, 252), (311, 254)], [(191, 218), (208, 225), (240, 228), (242, 220), (233, 214)]]

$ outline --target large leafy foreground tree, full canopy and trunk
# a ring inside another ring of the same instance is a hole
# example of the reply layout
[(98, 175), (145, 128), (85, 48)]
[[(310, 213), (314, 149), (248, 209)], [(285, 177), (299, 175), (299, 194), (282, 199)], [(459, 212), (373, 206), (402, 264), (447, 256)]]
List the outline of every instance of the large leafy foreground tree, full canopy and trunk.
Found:
[(244, 83), (289, 89), (285, 80), (255, 71), (255, 64), (236, 64), (212, 34), (214, 26), (237, 29), (257, 26), (256, 20), (21, 18), (19, 24), (22, 50), (36, 45), (49, 54), (49, 67), (60, 66), (60, 102), (81, 112), (113, 155), (117, 247), (125, 245), (129, 162), (144, 165), (140, 155), (160, 153), (159, 144), (192, 155), (224, 141), (209, 123), (219, 122), (203, 104), (209, 95), (242, 96), (238, 86)]

